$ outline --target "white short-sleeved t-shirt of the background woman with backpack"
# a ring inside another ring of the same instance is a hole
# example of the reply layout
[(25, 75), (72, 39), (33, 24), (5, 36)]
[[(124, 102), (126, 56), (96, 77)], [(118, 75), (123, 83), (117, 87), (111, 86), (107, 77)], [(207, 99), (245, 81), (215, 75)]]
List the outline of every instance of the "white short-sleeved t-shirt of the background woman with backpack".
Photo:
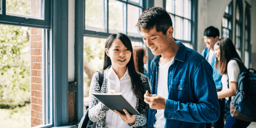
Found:
[[(239, 74), (241, 73), (241, 70), (239, 68), (239, 65), (237, 61), (231, 60), (227, 64), (227, 74), (228, 74), (228, 82), (237, 82)], [(227, 88), (227, 74), (223, 74), (221, 78), (221, 83), (222, 83), (222, 89), (228, 89)], [(233, 99), (234, 96), (231, 97)], [(226, 97), (226, 100), (228, 100), (228, 97)]]

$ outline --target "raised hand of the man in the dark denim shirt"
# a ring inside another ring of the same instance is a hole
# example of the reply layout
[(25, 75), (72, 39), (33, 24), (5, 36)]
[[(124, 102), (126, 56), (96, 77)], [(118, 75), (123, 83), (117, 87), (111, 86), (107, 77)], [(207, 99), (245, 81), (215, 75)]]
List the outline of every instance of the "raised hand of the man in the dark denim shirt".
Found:
[(166, 99), (153, 94), (148, 93), (148, 90), (144, 94), (144, 102), (150, 105), (151, 109), (165, 109), (166, 108)]

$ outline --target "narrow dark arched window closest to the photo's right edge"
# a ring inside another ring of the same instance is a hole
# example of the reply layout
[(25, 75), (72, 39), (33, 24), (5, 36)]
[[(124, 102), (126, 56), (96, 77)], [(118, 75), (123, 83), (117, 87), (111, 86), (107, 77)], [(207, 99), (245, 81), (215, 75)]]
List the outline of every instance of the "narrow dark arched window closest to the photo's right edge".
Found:
[(245, 29), (244, 29), (244, 65), (250, 67), (250, 6), (246, 5), (246, 18), (245, 18)]

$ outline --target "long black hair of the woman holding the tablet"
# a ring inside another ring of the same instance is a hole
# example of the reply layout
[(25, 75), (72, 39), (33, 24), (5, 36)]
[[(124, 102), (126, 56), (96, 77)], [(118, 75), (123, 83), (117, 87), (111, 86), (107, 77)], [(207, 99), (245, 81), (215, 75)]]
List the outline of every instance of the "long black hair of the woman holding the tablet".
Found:
[[(115, 39), (120, 39), (122, 41), (122, 44), (124, 44), (127, 47), (127, 49), (131, 51), (131, 58), (130, 58), (130, 61), (127, 63), (127, 68), (128, 68), (129, 76), (131, 77), (132, 90), (134, 91), (134, 94), (139, 98), (140, 105), (145, 106), (143, 85), (141, 83), (140, 76), (136, 72), (134, 67), (134, 56), (132, 54), (131, 40), (125, 34), (122, 34), (122, 33), (111, 34), (109, 35), (108, 39), (106, 39), (105, 48), (109, 50), (109, 48), (111, 47)], [(107, 56), (105, 52), (103, 70), (108, 68), (110, 65), (111, 65), (110, 57)]]

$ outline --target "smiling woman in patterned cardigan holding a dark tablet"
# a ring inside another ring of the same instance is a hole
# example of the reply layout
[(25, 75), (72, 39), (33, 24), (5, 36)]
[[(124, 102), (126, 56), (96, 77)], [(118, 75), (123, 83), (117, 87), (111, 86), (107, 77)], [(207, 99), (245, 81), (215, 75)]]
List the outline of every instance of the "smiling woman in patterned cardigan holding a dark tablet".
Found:
[[(97, 122), (96, 127), (140, 127), (146, 124), (148, 104), (143, 95), (150, 91), (147, 77), (136, 72), (130, 39), (122, 33), (111, 34), (105, 43), (104, 79), (100, 88), (99, 74), (94, 73), (89, 91), (89, 118)], [(112, 111), (95, 98), (92, 93), (117, 93), (134, 106), (140, 115), (125, 115)]]

